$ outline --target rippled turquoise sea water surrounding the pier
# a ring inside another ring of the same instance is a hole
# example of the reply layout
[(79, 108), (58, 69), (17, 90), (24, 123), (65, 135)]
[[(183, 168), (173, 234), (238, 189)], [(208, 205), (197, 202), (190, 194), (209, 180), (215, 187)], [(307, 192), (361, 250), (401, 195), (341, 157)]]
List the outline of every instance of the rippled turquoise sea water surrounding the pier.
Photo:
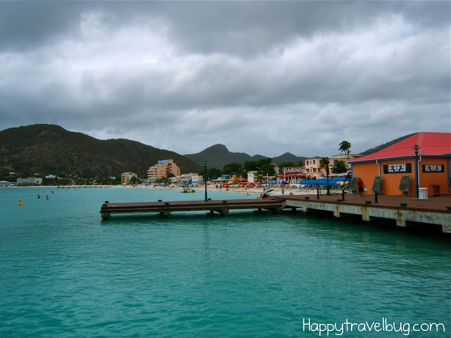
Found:
[[(0, 189), (0, 337), (450, 337), (449, 238), (302, 213), (101, 222), (103, 201), (157, 199), (204, 192)], [(383, 318), (403, 331), (357, 326)]]

